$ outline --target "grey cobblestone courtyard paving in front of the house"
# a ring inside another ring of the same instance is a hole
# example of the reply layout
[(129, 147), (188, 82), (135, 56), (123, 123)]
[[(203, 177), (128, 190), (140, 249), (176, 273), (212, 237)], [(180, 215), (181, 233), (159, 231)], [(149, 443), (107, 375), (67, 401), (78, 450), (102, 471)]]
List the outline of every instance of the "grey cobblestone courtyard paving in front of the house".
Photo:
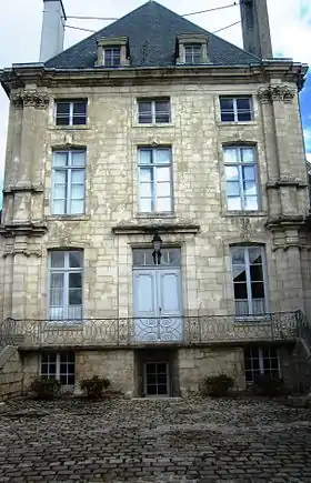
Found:
[(311, 482), (311, 410), (242, 399), (6, 407), (0, 482)]

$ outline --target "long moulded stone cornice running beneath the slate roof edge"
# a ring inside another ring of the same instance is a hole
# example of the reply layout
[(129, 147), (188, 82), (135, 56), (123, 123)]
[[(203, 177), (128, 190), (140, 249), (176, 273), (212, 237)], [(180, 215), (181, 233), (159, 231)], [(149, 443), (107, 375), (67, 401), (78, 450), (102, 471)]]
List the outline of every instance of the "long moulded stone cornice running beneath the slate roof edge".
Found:
[(93, 87), (171, 83), (183, 80), (188, 83), (219, 84), (228, 83), (264, 83), (272, 79), (294, 83), (301, 87), (308, 66), (289, 60), (263, 61), (244, 66), (172, 66), (165, 68), (120, 69), (48, 69), (43, 64), (13, 64), (11, 69), (0, 71), (0, 81), (7, 94), (12, 89), (23, 89), (32, 83), (38, 87)]

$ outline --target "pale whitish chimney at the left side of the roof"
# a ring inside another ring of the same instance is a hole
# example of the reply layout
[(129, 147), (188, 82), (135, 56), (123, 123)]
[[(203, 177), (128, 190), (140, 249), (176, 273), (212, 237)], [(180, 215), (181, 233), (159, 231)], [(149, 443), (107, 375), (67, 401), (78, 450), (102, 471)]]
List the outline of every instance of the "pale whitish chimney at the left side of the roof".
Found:
[(62, 0), (43, 0), (40, 62), (46, 62), (63, 50), (66, 12)]

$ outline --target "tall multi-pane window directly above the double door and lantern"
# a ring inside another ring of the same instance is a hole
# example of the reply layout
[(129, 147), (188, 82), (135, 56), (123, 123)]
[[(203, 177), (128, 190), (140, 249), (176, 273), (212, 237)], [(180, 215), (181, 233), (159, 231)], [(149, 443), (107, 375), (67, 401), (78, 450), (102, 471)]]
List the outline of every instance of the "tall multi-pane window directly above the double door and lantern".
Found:
[(139, 210), (141, 213), (172, 211), (172, 153), (170, 148), (140, 148)]

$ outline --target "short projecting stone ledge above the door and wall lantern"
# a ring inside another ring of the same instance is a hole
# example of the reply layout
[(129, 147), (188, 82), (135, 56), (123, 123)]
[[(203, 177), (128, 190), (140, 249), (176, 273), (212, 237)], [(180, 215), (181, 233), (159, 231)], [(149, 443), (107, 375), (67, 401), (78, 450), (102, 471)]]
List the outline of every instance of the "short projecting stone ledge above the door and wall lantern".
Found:
[(197, 234), (200, 231), (198, 224), (120, 224), (112, 228), (112, 232), (116, 235), (133, 235), (133, 234), (154, 234), (154, 232), (161, 233), (192, 233)]

